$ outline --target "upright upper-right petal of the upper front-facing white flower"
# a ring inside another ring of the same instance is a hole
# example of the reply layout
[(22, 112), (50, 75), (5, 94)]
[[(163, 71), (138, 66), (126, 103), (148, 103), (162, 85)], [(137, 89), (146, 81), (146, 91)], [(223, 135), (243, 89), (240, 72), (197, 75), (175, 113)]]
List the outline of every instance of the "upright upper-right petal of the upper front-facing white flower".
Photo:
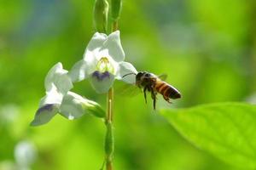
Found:
[(108, 36), (108, 39), (103, 43), (103, 47), (101, 48), (101, 50), (108, 49), (109, 55), (116, 62), (121, 62), (125, 59), (125, 52), (122, 48), (119, 35), (119, 31), (112, 32)]

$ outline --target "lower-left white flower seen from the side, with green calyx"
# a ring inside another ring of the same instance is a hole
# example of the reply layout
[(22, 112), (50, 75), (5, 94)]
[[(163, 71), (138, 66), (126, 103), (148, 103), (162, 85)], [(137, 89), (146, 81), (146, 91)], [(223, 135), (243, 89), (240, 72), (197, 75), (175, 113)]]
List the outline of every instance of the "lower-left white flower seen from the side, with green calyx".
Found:
[(54, 65), (49, 70), (44, 81), (46, 95), (40, 101), (39, 109), (31, 122), (32, 126), (49, 122), (57, 113), (70, 120), (83, 116), (86, 111), (100, 116), (104, 113), (96, 102), (69, 91), (73, 88), (73, 84), (67, 73), (68, 71), (62, 68), (61, 63)]

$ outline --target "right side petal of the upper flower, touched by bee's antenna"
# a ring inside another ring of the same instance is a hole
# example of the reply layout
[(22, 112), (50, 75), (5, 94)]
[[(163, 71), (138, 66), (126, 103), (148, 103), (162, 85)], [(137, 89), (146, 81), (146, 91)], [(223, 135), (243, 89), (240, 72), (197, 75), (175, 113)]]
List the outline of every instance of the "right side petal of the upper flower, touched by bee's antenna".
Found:
[[(130, 74), (130, 75), (127, 75), (127, 74)], [(117, 79), (132, 84), (136, 82), (136, 75), (137, 75), (137, 70), (133, 65), (131, 65), (131, 63), (128, 63), (128, 62), (119, 63), (119, 71), (116, 77)]]

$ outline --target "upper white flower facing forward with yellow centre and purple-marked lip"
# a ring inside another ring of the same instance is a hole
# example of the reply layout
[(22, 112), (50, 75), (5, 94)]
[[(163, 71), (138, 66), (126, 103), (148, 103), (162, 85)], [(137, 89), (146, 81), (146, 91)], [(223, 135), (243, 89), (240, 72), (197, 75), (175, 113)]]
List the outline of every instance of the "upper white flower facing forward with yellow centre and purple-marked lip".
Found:
[(137, 74), (134, 66), (124, 59), (125, 52), (121, 46), (119, 31), (114, 31), (109, 36), (96, 32), (84, 51), (84, 58), (73, 65), (69, 76), (73, 82), (89, 78), (97, 93), (107, 93), (114, 79), (135, 82), (135, 75), (122, 78), (128, 73)]

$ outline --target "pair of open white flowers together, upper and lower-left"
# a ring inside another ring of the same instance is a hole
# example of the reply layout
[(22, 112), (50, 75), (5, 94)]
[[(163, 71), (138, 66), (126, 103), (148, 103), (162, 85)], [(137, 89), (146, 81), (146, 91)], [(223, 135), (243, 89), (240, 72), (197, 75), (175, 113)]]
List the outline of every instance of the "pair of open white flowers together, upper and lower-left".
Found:
[(31, 125), (47, 123), (57, 113), (69, 120), (79, 118), (85, 113), (104, 117), (104, 111), (99, 104), (71, 92), (70, 89), (73, 88), (73, 82), (84, 79), (88, 79), (99, 94), (107, 93), (115, 79), (134, 83), (134, 75), (122, 78), (127, 73), (137, 74), (134, 66), (124, 59), (119, 31), (114, 31), (109, 36), (96, 32), (84, 51), (83, 59), (73, 65), (71, 71), (64, 70), (61, 63), (49, 70), (44, 81), (46, 95), (41, 99)]

